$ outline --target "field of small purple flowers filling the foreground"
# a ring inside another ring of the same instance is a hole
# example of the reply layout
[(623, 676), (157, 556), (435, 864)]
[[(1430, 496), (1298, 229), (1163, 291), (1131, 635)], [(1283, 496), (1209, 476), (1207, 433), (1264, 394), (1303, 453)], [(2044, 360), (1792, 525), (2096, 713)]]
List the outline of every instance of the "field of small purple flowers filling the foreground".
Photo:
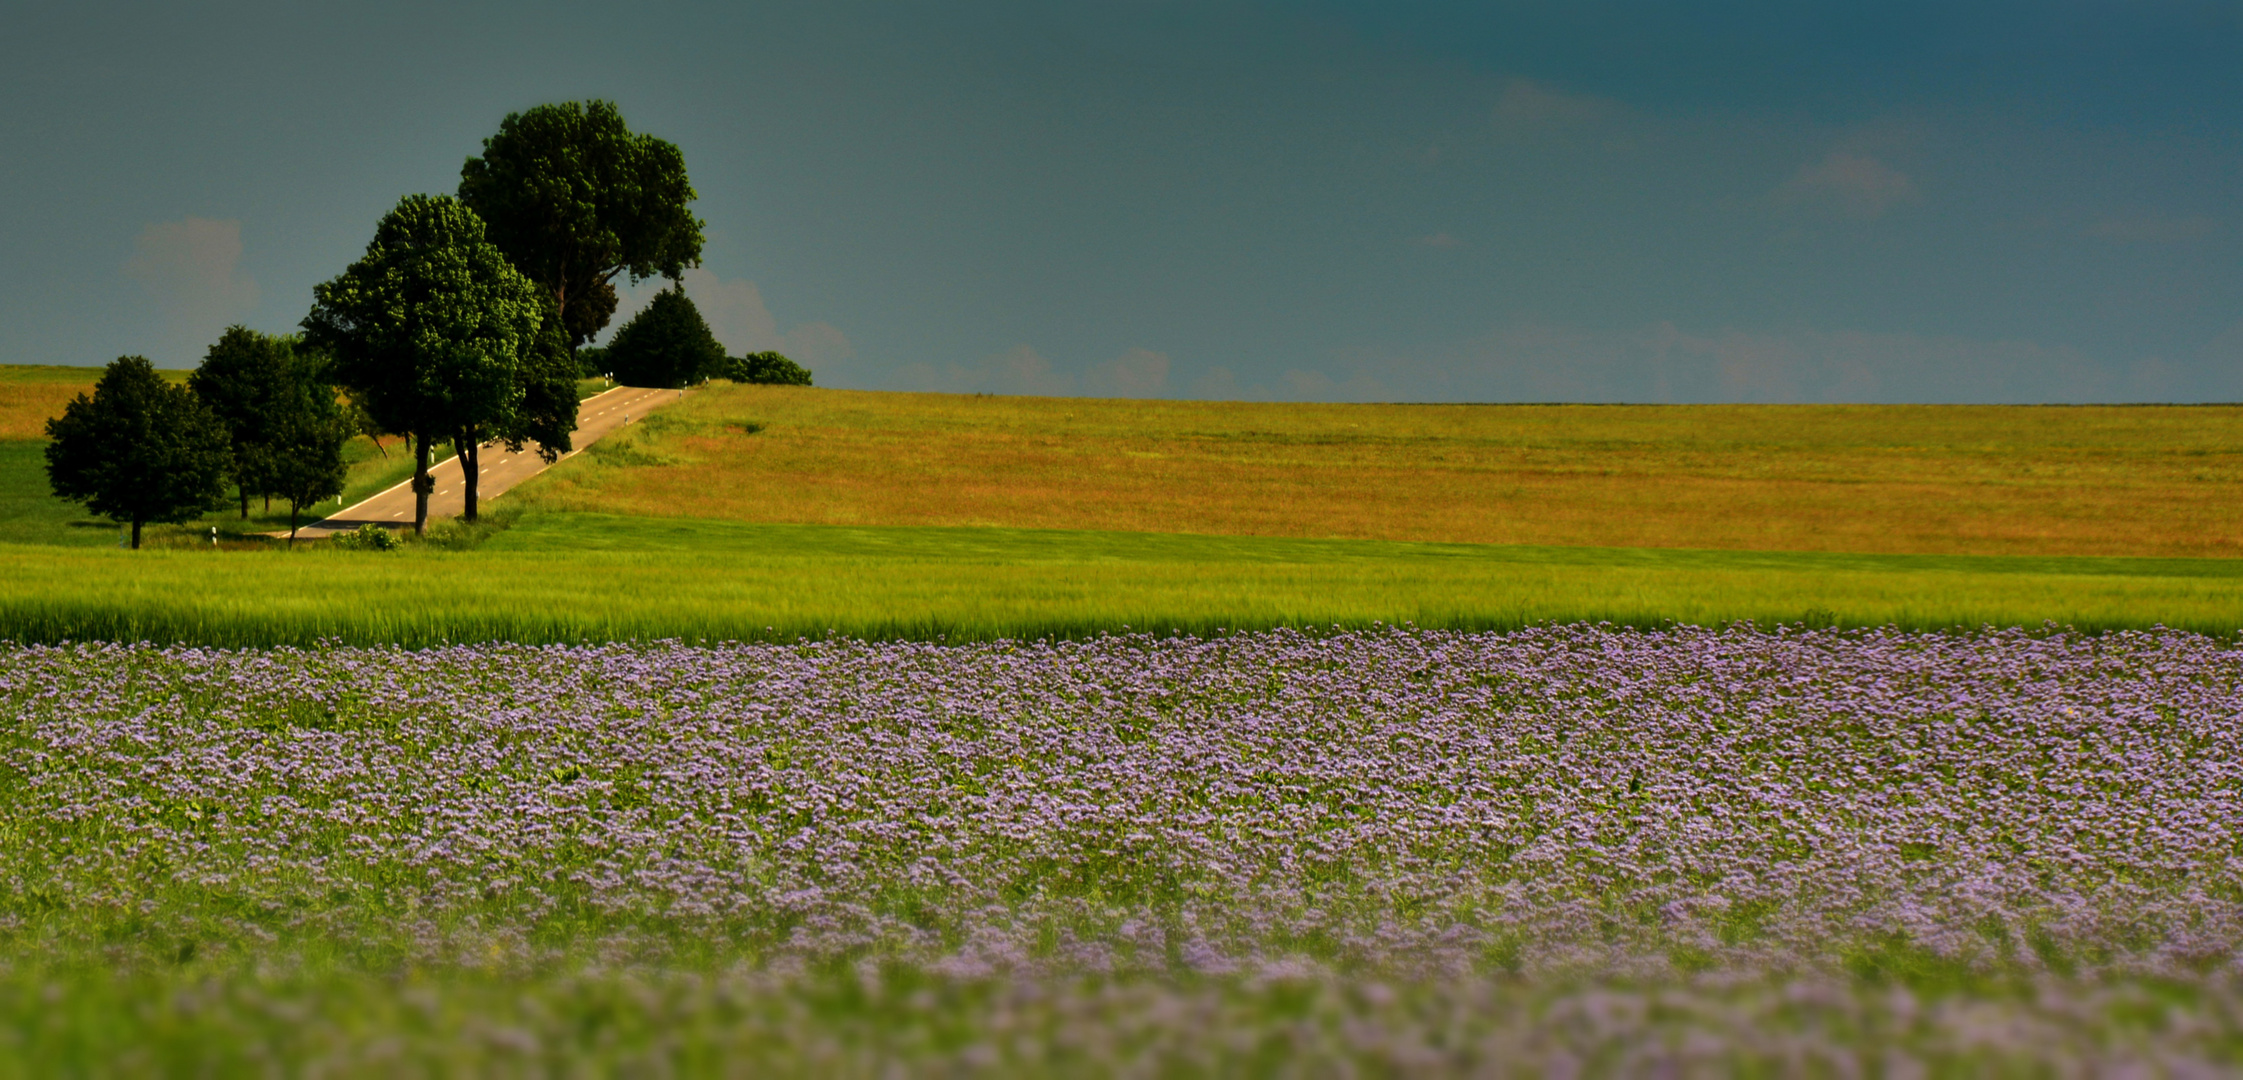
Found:
[(2243, 651), (0, 651), (0, 1069), (2227, 1076)]

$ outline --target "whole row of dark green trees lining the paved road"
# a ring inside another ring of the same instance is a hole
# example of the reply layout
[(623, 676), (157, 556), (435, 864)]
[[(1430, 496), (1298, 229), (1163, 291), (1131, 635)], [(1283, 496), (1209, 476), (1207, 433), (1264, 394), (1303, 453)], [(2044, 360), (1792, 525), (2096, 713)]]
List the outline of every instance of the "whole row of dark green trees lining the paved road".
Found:
[[(292, 501), (294, 521), (296, 505), (339, 492), (352, 427), (341, 388), (375, 429), (410, 438), (415, 532), (428, 525), (437, 440), (462, 458), (473, 521), (482, 442), (536, 442), (547, 460), (570, 451), (574, 350), (615, 314), (617, 276), (666, 276), (664, 294), (684, 301), (675, 283), (702, 249), (693, 198), (677, 146), (633, 135), (608, 101), (509, 115), (455, 195), (404, 198), (366, 254), (312, 290), (301, 341), (229, 330), (191, 388), (139, 357), (110, 364), (92, 397), (49, 422), (49, 480), (130, 521), (135, 548), (146, 521), (215, 507), (227, 478), (244, 516), (269, 494)], [(707, 357), (691, 366), (704, 373)], [(298, 501), (325, 485), (298, 483), (303, 472), (332, 476), (334, 492)]]

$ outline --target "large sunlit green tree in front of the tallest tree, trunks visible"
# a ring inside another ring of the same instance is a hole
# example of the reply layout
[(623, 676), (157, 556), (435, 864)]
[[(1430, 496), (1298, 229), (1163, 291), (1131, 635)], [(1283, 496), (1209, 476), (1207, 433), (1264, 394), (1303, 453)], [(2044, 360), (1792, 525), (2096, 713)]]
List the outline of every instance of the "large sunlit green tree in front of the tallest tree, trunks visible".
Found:
[[(451, 195), (408, 195), (366, 256), (312, 287), (305, 341), (386, 431), (413, 436), (413, 530), (428, 530), (428, 449), (464, 431), (505, 431), (545, 301)], [(473, 507), (476, 460), (460, 463)]]

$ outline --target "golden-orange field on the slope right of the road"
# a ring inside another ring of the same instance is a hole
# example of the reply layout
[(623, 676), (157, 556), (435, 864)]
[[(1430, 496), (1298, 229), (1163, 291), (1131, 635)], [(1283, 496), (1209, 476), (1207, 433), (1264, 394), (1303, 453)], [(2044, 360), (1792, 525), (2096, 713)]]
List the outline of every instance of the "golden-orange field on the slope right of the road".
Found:
[(538, 505), (832, 525), (2243, 555), (2239, 406), (1039, 400), (711, 384)]

